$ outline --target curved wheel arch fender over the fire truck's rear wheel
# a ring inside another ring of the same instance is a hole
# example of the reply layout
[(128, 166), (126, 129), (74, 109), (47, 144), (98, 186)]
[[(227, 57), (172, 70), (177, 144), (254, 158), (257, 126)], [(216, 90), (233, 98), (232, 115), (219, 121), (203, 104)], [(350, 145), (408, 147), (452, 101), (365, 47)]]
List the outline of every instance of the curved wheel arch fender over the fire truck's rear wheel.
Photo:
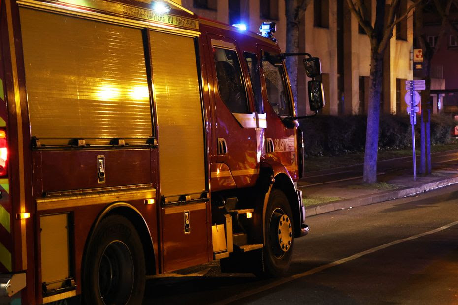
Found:
[[(93, 226), (91, 228), (91, 232), (89, 233), (89, 237), (86, 240), (86, 244), (85, 244), (85, 247), (84, 247), (83, 261), (85, 261), (85, 259), (86, 259), (86, 249), (87, 249), (88, 245), (92, 242), (92, 239), (94, 237), (94, 231), (97, 228), (98, 224), (100, 223), (100, 221), (105, 216), (107, 216), (109, 213), (114, 213), (116, 210), (124, 210), (124, 211), (127, 210), (127, 211), (131, 212), (132, 215), (134, 215), (136, 217), (140, 217), (143, 220), (143, 223), (141, 223), (141, 222), (140, 223), (132, 222), (132, 224), (137, 229), (138, 235), (140, 236), (140, 239), (142, 240), (143, 248), (144, 248), (143, 251), (145, 252), (145, 262), (148, 262), (148, 256), (146, 255), (147, 253), (151, 252), (152, 257), (153, 257), (153, 260), (152, 260), (153, 263), (151, 265), (149, 265), (147, 263), (147, 265), (146, 265), (147, 272), (148, 272), (148, 274), (155, 274), (155, 270), (156, 270), (156, 267), (155, 267), (156, 255), (154, 253), (154, 243), (153, 243), (153, 239), (151, 237), (150, 228), (148, 227), (148, 224), (146, 223), (146, 220), (143, 217), (143, 215), (140, 213), (140, 211), (138, 211), (137, 208), (135, 208), (134, 206), (132, 206), (131, 204), (129, 204), (127, 202), (114, 202), (114, 203), (108, 205), (105, 209), (103, 209), (103, 211), (98, 215), (97, 220), (94, 222), (94, 224), (93, 224)], [(122, 215), (126, 215), (126, 213), (123, 213)], [(132, 221), (132, 219), (130, 219), (129, 217), (127, 217), (127, 218), (130, 221)], [(148, 232), (149, 238), (145, 238), (145, 236), (142, 236), (142, 234), (141, 234), (141, 230), (142, 229), (146, 230)], [(148, 245), (145, 244), (145, 242), (146, 243), (150, 243), (150, 247), (149, 248), (147, 247)], [(84, 264), (82, 266), (84, 266)]]

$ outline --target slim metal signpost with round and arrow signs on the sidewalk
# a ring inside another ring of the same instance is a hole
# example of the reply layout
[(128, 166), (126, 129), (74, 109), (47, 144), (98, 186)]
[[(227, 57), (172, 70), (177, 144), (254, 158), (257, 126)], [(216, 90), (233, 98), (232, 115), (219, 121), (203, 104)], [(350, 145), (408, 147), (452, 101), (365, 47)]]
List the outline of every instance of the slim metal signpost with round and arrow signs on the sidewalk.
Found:
[(415, 155), (415, 124), (417, 124), (417, 112), (420, 110), (417, 106), (420, 103), (420, 94), (415, 90), (426, 89), (425, 80), (417, 81), (406, 81), (405, 89), (407, 93), (404, 100), (407, 107), (407, 113), (410, 116), (410, 125), (412, 126), (412, 151), (413, 151), (413, 163), (414, 163), (414, 180), (417, 180), (417, 160)]

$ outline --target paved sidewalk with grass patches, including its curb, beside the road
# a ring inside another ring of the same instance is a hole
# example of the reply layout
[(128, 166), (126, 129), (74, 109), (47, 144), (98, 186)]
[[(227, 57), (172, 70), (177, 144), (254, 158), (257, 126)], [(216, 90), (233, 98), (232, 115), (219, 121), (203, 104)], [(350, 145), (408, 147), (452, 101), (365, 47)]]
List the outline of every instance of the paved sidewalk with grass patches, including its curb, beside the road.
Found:
[(387, 200), (413, 196), (458, 183), (458, 167), (433, 170), (431, 175), (417, 176), (406, 171), (392, 172), (378, 177), (376, 184), (363, 184), (362, 178), (307, 185), (298, 182), (303, 192), (306, 215), (313, 216), (336, 210), (351, 209)]

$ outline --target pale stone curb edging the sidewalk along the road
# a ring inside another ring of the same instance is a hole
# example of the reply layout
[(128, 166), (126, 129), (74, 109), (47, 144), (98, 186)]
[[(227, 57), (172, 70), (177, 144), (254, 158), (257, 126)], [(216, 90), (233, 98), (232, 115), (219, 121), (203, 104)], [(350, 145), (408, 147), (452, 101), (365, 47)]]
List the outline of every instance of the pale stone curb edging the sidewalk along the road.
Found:
[(361, 196), (351, 199), (343, 199), (330, 203), (324, 203), (322, 205), (315, 205), (305, 208), (307, 216), (314, 216), (323, 213), (333, 212), (337, 210), (343, 210), (353, 207), (367, 206), (374, 203), (380, 203), (388, 200), (399, 199), (409, 196), (415, 196), (420, 193), (429, 192), (441, 187), (449, 186), (458, 183), (458, 177), (449, 179), (434, 181), (426, 184), (422, 184), (417, 187), (403, 188), (395, 191), (388, 191), (381, 194), (371, 196)]

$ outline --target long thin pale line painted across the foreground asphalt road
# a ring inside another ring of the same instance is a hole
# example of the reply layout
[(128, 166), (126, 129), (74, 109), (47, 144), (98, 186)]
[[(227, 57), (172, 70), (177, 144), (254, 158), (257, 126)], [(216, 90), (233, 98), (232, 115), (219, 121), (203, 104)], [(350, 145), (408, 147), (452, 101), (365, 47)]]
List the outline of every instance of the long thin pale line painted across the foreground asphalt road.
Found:
[(243, 299), (243, 298), (247, 298), (249, 296), (258, 294), (260, 292), (263, 292), (263, 291), (275, 288), (277, 286), (286, 284), (286, 283), (291, 282), (293, 280), (296, 280), (296, 279), (299, 279), (299, 278), (302, 278), (302, 277), (305, 277), (305, 276), (308, 276), (308, 275), (312, 275), (312, 274), (316, 274), (316, 273), (322, 272), (322, 271), (324, 271), (326, 269), (329, 269), (331, 267), (342, 265), (342, 264), (347, 263), (349, 261), (352, 261), (352, 260), (355, 260), (357, 258), (360, 258), (360, 257), (362, 257), (364, 255), (371, 254), (371, 253), (383, 250), (383, 249), (391, 247), (393, 245), (404, 243), (404, 242), (408, 242), (408, 241), (412, 241), (412, 240), (415, 240), (415, 239), (420, 238), (420, 237), (424, 237), (424, 236), (427, 236), (427, 235), (431, 235), (431, 234), (446, 230), (446, 229), (448, 229), (450, 227), (453, 227), (453, 226), (455, 226), (457, 224), (458, 224), (458, 221), (454, 221), (454, 222), (446, 224), (446, 225), (444, 225), (444, 226), (442, 226), (440, 228), (437, 228), (437, 229), (434, 229), (434, 230), (431, 230), (431, 231), (428, 231), (428, 232), (425, 232), (425, 233), (420, 233), (420, 234), (413, 235), (413, 236), (410, 236), (410, 237), (402, 238), (402, 239), (393, 241), (393, 242), (388, 243), (388, 244), (382, 244), (382, 245), (379, 245), (379, 246), (374, 247), (372, 249), (369, 249), (369, 250), (366, 250), (366, 251), (362, 251), (362, 252), (353, 254), (351, 256), (339, 259), (339, 260), (337, 260), (335, 262), (332, 262), (332, 263), (329, 263), (329, 264), (326, 264), (326, 265), (323, 265), (323, 266), (319, 266), (319, 267), (310, 269), (310, 270), (308, 270), (306, 272), (299, 273), (299, 274), (294, 274), (292, 276), (289, 276), (289, 277), (286, 277), (286, 278), (282, 278), (282, 279), (280, 279), (278, 281), (275, 281), (273, 283), (267, 284), (267, 285), (265, 285), (263, 287), (259, 287), (259, 288), (255, 288), (255, 289), (252, 289), (252, 290), (249, 290), (249, 291), (238, 293), (238, 294), (234, 295), (233, 297), (230, 297), (230, 298), (215, 302), (213, 304), (229, 304), (231, 302), (235, 302), (237, 300), (240, 300), (240, 299)]

